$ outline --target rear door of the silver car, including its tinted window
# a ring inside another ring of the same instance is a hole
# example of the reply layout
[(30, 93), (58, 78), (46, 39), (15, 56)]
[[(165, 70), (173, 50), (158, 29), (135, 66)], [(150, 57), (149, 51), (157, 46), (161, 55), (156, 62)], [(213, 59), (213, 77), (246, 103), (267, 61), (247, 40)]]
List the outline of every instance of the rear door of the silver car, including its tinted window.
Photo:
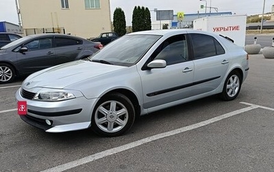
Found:
[(195, 66), (193, 93), (198, 95), (219, 87), (227, 72), (229, 57), (211, 35), (191, 33), (190, 38)]

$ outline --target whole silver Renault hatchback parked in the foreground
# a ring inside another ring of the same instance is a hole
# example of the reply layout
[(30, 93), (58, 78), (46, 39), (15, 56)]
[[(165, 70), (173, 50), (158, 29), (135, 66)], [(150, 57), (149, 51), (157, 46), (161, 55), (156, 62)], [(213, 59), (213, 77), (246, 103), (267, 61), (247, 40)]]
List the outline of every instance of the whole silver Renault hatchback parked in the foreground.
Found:
[(220, 35), (141, 31), (111, 42), (88, 61), (28, 76), (16, 100), (27, 105), (21, 119), (46, 132), (91, 127), (115, 137), (138, 115), (214, 94), (234, 100), (248, 70), (247, 53)]

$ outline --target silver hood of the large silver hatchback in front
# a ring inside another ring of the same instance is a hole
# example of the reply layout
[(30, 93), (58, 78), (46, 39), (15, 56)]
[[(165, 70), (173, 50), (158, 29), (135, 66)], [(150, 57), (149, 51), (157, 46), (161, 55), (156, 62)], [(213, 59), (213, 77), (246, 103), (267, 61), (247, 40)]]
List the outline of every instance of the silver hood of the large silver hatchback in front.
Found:
[(121, 70), (122, 68), (126, 67), (84, 60), (72, 61), (30, 75), (25, 79), (23, 87), (25, 89), (34, 87), (63, 89), (77, 82)]

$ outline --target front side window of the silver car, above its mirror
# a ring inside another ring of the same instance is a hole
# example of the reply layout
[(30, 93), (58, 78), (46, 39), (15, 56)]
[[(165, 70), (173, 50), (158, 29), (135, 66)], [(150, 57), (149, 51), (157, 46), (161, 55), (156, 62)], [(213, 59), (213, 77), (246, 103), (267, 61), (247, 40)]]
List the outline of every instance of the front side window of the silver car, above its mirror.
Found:
[(151, 59), (163, 59), (166, 61), (166, 65), (188, 61), (186, 35), (175, 35), (166, 39), (155, 50)]

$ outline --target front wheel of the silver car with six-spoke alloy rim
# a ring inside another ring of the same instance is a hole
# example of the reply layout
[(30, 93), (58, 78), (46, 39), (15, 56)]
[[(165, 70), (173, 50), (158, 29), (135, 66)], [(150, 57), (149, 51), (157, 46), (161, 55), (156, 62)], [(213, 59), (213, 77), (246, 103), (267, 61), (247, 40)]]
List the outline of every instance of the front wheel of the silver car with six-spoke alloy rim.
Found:
[[(121, 113), (121, 114), (118, 114)], [(116, 137), (132, 127), (135, 111), (123, 94), (113, 93), (99, 100), (92, 113), (91, 128), (103, 137)]]

